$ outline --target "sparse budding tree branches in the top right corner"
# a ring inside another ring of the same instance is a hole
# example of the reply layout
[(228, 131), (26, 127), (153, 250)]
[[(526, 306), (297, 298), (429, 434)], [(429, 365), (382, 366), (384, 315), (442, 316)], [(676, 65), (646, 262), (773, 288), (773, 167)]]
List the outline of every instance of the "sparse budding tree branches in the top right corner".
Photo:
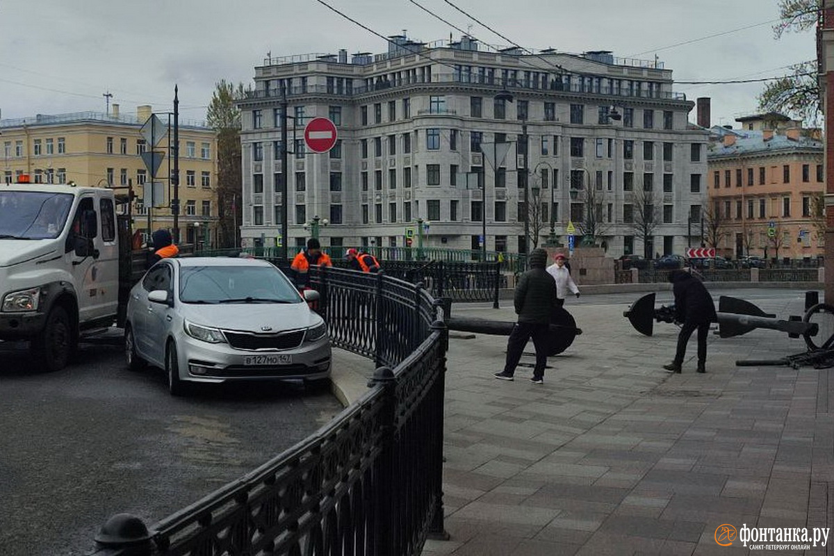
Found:
[[(816, 26), (821, 0), (780, 0), (780, 21), (773, 26), (778, 40), (784, 33), (802, 33)], [(796, 63), (786, 76), (771, 81), (759, 94), (759, 109), (786, 113), (816, 126), (821, 117), (816, 60)]]

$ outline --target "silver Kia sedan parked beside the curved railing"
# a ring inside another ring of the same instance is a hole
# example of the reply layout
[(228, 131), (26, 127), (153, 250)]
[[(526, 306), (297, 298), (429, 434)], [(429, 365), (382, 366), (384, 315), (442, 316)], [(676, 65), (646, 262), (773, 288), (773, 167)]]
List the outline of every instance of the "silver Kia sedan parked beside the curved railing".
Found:
[(164, 258), (133, 286), (124, 325), (128, 366), (183, 383), (329, 378), (327, 325), (274, 265), (253, 258)]

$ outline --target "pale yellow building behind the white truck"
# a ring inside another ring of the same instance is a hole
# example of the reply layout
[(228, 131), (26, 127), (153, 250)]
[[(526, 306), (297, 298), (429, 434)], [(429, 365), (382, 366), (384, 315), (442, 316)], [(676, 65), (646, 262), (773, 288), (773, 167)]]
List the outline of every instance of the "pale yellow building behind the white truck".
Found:
[[(119, 112), (113, 104), (110, 113), (38, 114), (31, 118), (0, 120), (0, 151), (3, 182), (17, 181), (28, 174), (34, 183), (77, 183), (93, 187), (133, 187), (133, 228), (143, 235), (159, 228), (173, 229), (170, 202), (170, 169), (173, 167), (170, 132), (154, 149), (163, 154), (153, 181), (160, 183), (163, 199), (144, 202), (151, 178), (142, 153), (148, 142), (141, 133), (153, 109), (140, 106), (137, 113)], [(158, 114), (166, 132), (168, 114)], [(179, 230), (180, 243), (215, 245), (217, 238), (217, 143), (214, 130), (202, 123), (179, 125)], [(127, 193), (127, 189), (119, 191)]]

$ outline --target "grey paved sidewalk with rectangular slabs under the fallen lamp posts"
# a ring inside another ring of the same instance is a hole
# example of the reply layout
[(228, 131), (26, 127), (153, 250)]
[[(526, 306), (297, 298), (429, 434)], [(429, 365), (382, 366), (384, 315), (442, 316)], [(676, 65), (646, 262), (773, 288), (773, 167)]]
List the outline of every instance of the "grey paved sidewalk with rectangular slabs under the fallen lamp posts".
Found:
[[(693, 337), (684, 373), (667, 374), (661, 365), (671, 360), (678, 329), (661, 323), (653, 338), (636, 333), (622, 312), (639, 295), (569, 300), (584, 333), (550, 358), (543, 386), (528, 380), (531, 367), (520, 367), (511, 383), (492, 378), (503, 367), (504, 337), (450, 341), (444, 501), (451, 538), (429, 541), (426, 556), (731, 555), (748, 551), (738, 538), (731, 547), (716, 543), (722, 523), (834, 524), (830, 371), (736, 367), (736, 359), (805, 349), (801, 339), (759, 330), (711, 335), (706, 375), (695, 373)], [(756, 303), (781, 318), (802, 313), (801, 292), (781, 299)], [(515, 317), (509, 307), (456, 305), (453, 313)], [(826, 550), (834, 554), (830, 546), (807, 553)]]

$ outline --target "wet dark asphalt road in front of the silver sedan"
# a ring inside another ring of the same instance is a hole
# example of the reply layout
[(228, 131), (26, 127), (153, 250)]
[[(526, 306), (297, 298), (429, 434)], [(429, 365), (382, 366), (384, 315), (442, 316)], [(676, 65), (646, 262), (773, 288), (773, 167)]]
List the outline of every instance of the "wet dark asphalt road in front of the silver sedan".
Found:
[[(84, 554), (113, 513), (154, 523), (339, 413), (329, 391), (259, 383), (173, 398), (110, 346), (40, 373), (0, 344), (0, 554)], [(12, 346), (11, 348), (14, 348)]]

